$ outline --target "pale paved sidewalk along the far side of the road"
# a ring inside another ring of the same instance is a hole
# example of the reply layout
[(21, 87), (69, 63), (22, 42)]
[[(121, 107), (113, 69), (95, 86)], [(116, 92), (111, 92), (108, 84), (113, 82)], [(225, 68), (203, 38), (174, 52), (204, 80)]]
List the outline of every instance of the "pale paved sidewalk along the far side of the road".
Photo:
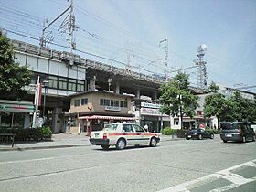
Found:
[[(180, 140), (180, 138), (161, 135), (161, 142)], [(47, 148), (62, 148), (62, 147), (78, 147), (90, 146), (89, 137), (85, 133), (59, 133), (52, 135), (52, 141), (46, 142), (17, 142), (12, 148), (11, 144), (0, 144), (0, 151), (17, 151), (29, 149), (47, 149)]]

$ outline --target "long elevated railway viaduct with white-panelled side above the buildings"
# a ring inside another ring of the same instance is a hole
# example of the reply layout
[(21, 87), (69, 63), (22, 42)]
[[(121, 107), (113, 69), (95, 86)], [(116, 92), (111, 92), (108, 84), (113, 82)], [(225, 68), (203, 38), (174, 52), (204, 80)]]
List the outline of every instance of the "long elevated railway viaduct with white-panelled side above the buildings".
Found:
[[(119, 94), (133, 94), (136, 105), (141, 101), (159, 102), (159, 87), (165, 79), (145, 75), (132, 70), (116, 68), (79, 55), (70, 55), (65, 51), (39, 48), (26, 42), (11, 40), (15, 50), (16, 62), (26, 65), (33, 71), (32, 84), (48, 80), (43, 89), (46, 94), (46, 111), (55, 133), (64, 132), (61, 114), (69, 112), (69, 96), (82, 91), (110, 90)], [(73, 59), (70, 65), (70, 59)], [(109, 79), (111, 82), (109, 83)], [(34, 88), (27, 87), (30, 94), (27, 101), (34, 101)], [(201, 93), (197, 88), (191, 91)], [(143, 97), (144, 96), (144, 100)], [(146, 99), (147, 98), (147, 99)], [(151, 99), (150, 99), (151, 98)], [(15, 98), (13, 98), (15, 99)], [(42, 110), (42, 107), (40, 108)]]

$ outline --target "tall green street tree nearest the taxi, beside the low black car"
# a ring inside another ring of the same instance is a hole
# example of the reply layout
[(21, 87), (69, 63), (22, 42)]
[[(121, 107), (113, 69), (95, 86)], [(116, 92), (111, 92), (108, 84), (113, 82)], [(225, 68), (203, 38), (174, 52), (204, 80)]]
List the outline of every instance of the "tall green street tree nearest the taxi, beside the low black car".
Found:
[(161, 86), (162, 107), (161, 112), (181, 117), (181, 126), (183, 127), (183, 116), (187, 115), (193, 118), (198, 106), (197, 95), (193, 95), (188, 88), (188, 75), (178, 73), (173, 80)]

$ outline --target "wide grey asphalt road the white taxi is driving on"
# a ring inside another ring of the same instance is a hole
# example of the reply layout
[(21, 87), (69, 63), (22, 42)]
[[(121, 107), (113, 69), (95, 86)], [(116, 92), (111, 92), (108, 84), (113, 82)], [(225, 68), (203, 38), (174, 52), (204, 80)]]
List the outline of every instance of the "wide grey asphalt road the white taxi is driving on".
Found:
[(0, 191), (255, 191), (256, 143), (0, 152)]

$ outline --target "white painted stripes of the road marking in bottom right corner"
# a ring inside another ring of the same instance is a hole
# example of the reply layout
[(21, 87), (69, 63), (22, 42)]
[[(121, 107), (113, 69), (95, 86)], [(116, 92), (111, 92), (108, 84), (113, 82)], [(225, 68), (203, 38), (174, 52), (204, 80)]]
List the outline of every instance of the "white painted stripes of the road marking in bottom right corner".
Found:
[(201, 181), (209, 180), (211, 178), (225, 178), (225, 179), (228, 179), (230, 182), (232, 182), (231, 185), (213, 189), (212, 192), (213, 191), (214, 192), (220, 192), (220, 191), (228, 190), (229, 188), (238, 187), (242, 184), (249, 183), (251, 181), (255, 181), (256, 176), (253, 177), (253, 178), (248, 179), (248, 178), (244, 178), (240, 175), (230, 173), (229, 171), (240, 168), (241, 166), (251, 166), (251, 165), (254, 164), (254, 162), (256, 162), (256, 159), (251, 160), (251, 161), (246, 162), (246, 163), (243, 163), (243, 164), (240, 164), (240, 165), (231, 166), (227, 169), (223, 169), (219, 172), (216, 172), (214, 174), (210, 174), (208, 176), (203, 176), (203, 177), (197, 178), (197, 179), (192, 180), (192, 181), (187, 181), (187, 182), (179, 184), (175, 187), (165, 188), (165, 189), (160, 190), (158, 192), (188, 192), (189, 190), (187, 190), (187, 187), (195, 185), (195, 184), (197, 184)]

